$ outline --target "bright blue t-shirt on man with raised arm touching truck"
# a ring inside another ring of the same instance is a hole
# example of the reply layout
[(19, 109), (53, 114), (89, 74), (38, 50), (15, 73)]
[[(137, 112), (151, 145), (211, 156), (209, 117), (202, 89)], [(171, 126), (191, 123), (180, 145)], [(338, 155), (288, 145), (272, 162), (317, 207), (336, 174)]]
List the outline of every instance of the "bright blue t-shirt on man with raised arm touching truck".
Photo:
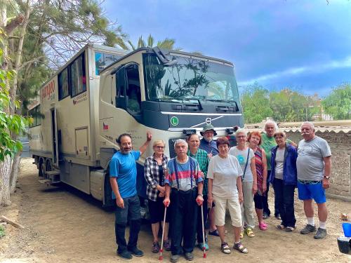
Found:
[[(136, 192), (136, 163), (140, 157), (140, 151), (130, 151), (122, 154), (117, 151), (110, 162), (110, 177), (117, 177), (119, 194), (122, 198), (135, 196)], [(112, 198), (114, 192), (112, 191)]]

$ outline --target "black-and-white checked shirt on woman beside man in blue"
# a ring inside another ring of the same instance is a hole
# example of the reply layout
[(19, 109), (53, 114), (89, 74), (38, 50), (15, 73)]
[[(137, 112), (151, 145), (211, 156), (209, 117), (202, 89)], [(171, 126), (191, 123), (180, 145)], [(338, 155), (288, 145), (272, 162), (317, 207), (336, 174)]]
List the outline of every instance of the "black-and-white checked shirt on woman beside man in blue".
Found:
[[(167, 169), (168, 157), (166, 155), (162, 156), (162, 168)], [(154, 154), (147, 157), (144, 163), (144, 176), (147, 182), (146, 195), (152, 201), (157, 201), (157, 196), (159, 196), (159, 190), (157, 190), (157, 185), (164, 187), (164, 175), (162, 182), (159, 182), (159, 163), (154, 159)]]

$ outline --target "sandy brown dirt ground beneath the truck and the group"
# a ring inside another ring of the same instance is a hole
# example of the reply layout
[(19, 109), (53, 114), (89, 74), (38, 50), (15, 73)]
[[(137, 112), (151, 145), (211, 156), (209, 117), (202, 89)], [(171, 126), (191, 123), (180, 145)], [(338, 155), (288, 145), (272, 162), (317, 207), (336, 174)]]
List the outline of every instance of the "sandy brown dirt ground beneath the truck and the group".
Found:
[[(12, 205), (0, 207), (0, 215), (18, 221), (25, 229), (6, 226), (6, 236), (0, 239), (0, 262), (117, 262), (114, 241), (114, 213), (106, 212), (91, 196), (72, 187), (46, 187), (38, 182), (37, 168), (32, 159), (22, 159), (18, 189)], [(270, 196), (272, 200), (272, 196)], [(220, 252), (218, 237), (209, 237), (207, 258), (195, 248), (194, 262), (351, 262), (350, 255), (338, 251), (336, 238), (342, 235), (340, 213), (351, 215), (351, 204), (338, 200), (327, 202), (328, 236), (314, 240), (312, 234), (299, 233), (305, 224), (303, 203), (296, 201), (297, 229), (286, 233), (275, 229), (274, 217), (267, 220), (269, 229), (256, 228), (256, 237), (244, 237), (249, 254), (232, 250), (231, 255)], [(232, 243), (230, 220), (227, 218), (227, 241)], [(130, 262), (157, 262), (151, 252), (151, 227), (143, 224), (139, 247), (145, 256)], [(165, 252), (164, 262), (169, 262)], [(185, 262), (182, 258), (180, 262)]]

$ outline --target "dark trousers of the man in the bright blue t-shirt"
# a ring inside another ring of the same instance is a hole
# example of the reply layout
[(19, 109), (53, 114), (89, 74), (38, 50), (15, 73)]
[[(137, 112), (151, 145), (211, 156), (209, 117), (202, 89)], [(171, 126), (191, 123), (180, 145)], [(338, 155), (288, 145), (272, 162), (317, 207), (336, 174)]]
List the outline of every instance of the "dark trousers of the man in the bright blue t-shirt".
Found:
[[(140, 201), (138, 195), (123, 198), (123, 201), (124, 208), (119, 208), (117, 206), (114, 213), (114, 234), (116, 235), (116, 243), (118, 245), (117, 252), (123, 252), (127, 249), (131, 250), (136, 247), (141, 224)], [(124, 235), (128, 219), (129, 240), (127, 245)]]

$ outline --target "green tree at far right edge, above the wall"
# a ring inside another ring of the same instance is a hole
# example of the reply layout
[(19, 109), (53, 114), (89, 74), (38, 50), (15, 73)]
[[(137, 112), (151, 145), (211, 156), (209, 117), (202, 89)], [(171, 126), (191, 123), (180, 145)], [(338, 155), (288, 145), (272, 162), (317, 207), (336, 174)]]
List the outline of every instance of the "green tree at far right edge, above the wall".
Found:
[(351, 83), (343, 83), (333, 88), (331, 94), (322, 100), (322, 106), (326, 114), (333, 119), (351, 119)]

